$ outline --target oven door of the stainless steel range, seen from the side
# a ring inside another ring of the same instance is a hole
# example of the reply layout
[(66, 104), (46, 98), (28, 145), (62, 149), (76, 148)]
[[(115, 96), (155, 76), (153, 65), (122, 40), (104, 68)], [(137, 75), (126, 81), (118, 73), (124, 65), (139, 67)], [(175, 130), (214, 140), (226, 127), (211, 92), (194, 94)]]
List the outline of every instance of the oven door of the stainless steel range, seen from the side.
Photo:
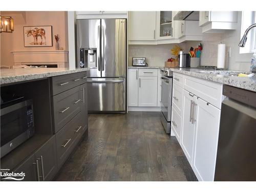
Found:
[(172, 106), (172, 78), (161, 77), (162, 93), (161, 93), (161, 112), (166, 121), (170, 121), (170, 113)]

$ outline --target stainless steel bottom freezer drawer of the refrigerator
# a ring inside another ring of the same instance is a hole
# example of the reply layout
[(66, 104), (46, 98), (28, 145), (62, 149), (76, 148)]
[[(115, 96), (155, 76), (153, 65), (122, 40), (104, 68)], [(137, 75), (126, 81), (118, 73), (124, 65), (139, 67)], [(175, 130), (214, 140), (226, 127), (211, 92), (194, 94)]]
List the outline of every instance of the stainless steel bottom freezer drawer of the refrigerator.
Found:
[(125, 112), (125, 84), (123, 78), (88, 78), (88, 111)]

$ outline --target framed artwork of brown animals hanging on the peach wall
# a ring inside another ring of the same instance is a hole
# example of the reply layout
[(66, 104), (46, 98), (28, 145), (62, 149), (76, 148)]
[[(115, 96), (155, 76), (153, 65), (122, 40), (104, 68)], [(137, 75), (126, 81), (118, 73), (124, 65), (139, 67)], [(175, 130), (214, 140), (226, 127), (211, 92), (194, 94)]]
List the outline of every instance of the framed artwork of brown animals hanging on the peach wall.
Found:
[(25, 26), (24, 47), (52, 47), (52, 26)]

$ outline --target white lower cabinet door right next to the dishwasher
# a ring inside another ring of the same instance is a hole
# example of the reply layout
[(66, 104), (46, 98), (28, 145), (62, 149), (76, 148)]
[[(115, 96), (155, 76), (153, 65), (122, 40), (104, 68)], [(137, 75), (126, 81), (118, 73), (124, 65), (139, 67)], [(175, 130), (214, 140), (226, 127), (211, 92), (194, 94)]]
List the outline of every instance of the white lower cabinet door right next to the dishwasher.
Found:
[(195, 99), (195, 143), (193, 170), (200, 181), (214, 181), (221, 110)]

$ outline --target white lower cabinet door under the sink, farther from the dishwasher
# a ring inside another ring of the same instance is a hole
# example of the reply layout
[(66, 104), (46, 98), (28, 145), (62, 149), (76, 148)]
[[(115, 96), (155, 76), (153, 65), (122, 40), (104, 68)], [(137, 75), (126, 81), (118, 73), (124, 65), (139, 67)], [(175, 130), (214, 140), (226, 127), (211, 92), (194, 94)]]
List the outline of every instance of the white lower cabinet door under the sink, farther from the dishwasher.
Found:
[(181, 131), (181, 147), (188, 162), (192, 163), (194, 149), (195, 124), (191, 122), (191, 111), (193, 94), (183, 90), (183, 114), (182, 114), (182, 131)]

